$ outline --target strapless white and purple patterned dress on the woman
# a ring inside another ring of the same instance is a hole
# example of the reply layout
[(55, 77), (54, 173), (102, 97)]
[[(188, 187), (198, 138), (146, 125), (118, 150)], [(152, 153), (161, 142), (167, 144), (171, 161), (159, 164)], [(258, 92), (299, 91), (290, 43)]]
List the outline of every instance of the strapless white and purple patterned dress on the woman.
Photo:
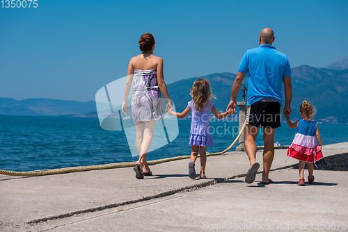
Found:
[(136, 70), (133, 76), (132, 115), (134, 124), (161, 119), (161, 92), (156, 70)]

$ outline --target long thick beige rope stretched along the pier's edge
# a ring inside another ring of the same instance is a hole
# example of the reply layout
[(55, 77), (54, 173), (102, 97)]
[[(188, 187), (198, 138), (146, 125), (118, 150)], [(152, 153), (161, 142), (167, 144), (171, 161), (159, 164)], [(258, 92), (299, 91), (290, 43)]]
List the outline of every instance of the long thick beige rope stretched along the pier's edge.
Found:
[[(230, 144), (230, 147), (227, 149), (216, 152), (216, 153), (208, 153), (207, 156), (219, 156), (221, 154), (226, 153), (229, 151), (233, 146), (235, 146), (235, 143), (237, 140), (239, 140), (239, 137), (242, 135), (242, 132), (244, 131), (246, 126), (246, 122), (244, 122), (242, 129), (239, 131), (239, 134), (235, 141)], [(165, 163), (173, 160), (182, 160), (190, 158), (190, 156), (176, 156), (171, 158), (162, 158), (159, 160), (152, 160), (148, 161), (148, 165), (156, 165), (159, 163)], [(107, 165), (92, 165), (92, 166), (84, 166), (84, 167), (67, 167), (67, 168), (61, 168), (61, 169), (51, 169), (51, 170), (44, 170), (44, 171), (31, 171), (31, 172), (13, 172), (13, 171), (6, 171), (0, 169), (0, 174), (7, 175), (7, 176), (47, 176), (47, 175), (54, 175), (54, 174), (65, 174), (70, 172), (85, 172), (85, 171), (91, 171), (91, 170), (100, 170), (100, 169), (111, 169), (111, 168), (120, 168), (120, 167), (133, 167), (135, 165), (135, 162), (130, 163), (110, 163)]]

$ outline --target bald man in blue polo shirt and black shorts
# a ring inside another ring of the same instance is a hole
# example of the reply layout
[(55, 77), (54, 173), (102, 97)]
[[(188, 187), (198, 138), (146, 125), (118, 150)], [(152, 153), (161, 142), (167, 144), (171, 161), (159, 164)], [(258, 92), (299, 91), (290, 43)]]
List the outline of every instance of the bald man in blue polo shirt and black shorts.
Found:
[(231, 101), (227, 110), (236, 109), (236, 99), (244, 76), (248, 73), (248, 99), (246, 102), (246, 138), (245, 150), (250, 160), (250, 167), (245, 182), (253, 183), (260, 164), (256, 162), (256, 143), (258, 128), (263, 127), (263, 173), (262, 183), (272, 183), (269, 169), (274, 158), (274, 133), (280, 126), (282, 106), (282, 86), (285, 88), (285, 106), (283, 114), (289, 117), (292, 98), (291, 69), (285, 54), (272, 45), (274, 32), (264, 28), (260, 32), (260, 47), (249, 49), (239, 64), (238, 73), (232, 86)]

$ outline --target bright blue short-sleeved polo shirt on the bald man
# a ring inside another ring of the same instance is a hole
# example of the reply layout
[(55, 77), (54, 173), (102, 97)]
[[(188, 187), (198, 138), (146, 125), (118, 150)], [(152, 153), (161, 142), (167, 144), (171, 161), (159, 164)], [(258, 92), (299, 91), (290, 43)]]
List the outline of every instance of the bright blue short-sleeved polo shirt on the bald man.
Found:
[(262, 44), (244, 54), (238, 72), (249, 72), (248, 99), (251, 105), (265, 97), (274, 98), (282, 105), (283, 77), (291, 76), (290, 63), (285, 54), (271, 44)]

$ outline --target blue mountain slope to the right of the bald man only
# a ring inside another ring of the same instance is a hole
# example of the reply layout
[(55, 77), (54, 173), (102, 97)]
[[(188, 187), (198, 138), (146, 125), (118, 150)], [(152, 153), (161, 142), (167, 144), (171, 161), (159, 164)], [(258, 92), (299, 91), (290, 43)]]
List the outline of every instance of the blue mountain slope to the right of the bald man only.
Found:
[(348, 123), (348, 69), (296, 67), (292, 69), (292, 90), (295, 113), (306, 99), (317, 108), (318, 121)]

